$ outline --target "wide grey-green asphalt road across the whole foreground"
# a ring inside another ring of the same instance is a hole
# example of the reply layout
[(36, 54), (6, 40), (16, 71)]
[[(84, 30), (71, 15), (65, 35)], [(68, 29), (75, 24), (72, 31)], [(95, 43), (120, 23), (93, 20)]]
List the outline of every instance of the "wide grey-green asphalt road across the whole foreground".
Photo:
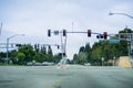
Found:
[(1, 66), (0, 88), (133, 88), (133, 68)]

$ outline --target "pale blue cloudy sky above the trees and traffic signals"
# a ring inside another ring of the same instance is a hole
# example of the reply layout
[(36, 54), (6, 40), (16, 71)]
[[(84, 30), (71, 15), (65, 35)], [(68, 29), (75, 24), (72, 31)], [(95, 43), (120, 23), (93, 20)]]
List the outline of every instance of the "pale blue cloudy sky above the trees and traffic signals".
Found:
[[(10, 43), (60, 44), (60, 35), (48, 37), (48, 30), (68, 32), (92, 32), (116, 34), (124, 28), (133, 29), (133, 0), (0, 0), (0, 22), (2, 31), (0, 43), (16, 34)], [(96, 35), (66, 34), (66, 54), (72, 59), (80, 46), (98, 42)], [(52, 46), (53, 53), (59, 53)]]

